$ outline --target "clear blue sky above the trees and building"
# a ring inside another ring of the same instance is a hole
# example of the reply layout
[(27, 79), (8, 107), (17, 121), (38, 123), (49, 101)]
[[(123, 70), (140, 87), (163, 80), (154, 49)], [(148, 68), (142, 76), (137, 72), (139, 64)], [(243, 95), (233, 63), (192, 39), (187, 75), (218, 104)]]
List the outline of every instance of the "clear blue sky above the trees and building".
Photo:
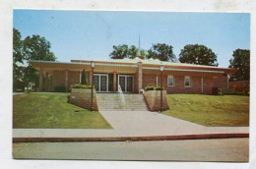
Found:
[(39, 34), (51, 43), (58, 61), (109, 60), (113, 45), (150, 49), (173, 46), (178, 57), (186, 44), (204, 44), (227, 67), (232, 51), (250, 48), (250, 15), (246, 13), (174, 13), (14, 10), (14, 28), (22, 38)]

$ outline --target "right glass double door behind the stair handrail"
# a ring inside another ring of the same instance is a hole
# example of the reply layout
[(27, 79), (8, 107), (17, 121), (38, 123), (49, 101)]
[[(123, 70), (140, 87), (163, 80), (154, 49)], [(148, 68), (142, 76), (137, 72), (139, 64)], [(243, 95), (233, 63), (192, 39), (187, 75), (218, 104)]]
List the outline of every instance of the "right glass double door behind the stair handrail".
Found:
[(119, 75), (118, 83), (121, 86), (123, 92), (133, 91), (133, 76)]

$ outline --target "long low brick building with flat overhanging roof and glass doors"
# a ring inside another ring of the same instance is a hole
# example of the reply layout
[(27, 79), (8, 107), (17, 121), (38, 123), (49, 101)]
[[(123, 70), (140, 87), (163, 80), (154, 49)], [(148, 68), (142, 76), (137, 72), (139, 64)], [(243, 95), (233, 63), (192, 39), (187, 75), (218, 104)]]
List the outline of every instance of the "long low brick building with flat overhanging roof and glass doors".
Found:
[[(118, 86), (124, 92), (138, 93), (149, 85), (162, 85), (167, 93), (203, 93), (212, 94), (213, 87), (227, 87), (227, 75), (234, 69), (202, 66), (194, 64), (161, 62), (153, 59), (116, 59), (94, 61), (94, 76), (91, 62), (71, 60), (71, 62), (32, 61), (32, 67), (39, 72), (39, 90), (54, 91), (63, 86), (68, 91), (71, 84), (81, 82), (85, 70), (97, 92), (117, 92)], [(160, 71), (160, 66), (163, 71)]]

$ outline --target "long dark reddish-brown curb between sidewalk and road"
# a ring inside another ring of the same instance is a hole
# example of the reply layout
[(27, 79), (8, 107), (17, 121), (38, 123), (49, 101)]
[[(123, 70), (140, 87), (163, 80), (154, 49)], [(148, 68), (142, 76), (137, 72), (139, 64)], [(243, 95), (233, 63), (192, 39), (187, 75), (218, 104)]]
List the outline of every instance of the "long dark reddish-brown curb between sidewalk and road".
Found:
[(249, 134), (203, 134), (150, 137), (106, 137), (106, 138), (13, 138), (13, 142), (63, 142), (63, 141), (178, 141), (249, 138)]

